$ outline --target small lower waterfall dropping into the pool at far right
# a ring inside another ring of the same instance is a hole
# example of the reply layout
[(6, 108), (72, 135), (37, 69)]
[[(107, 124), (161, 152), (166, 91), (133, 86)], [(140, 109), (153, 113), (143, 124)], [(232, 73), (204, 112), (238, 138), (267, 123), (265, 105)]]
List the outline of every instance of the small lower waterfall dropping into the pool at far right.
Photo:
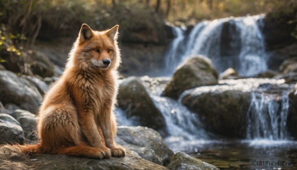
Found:
[(288, 92), (284, 92), (281, 97), (251, 93), (247, 112), (247, 138), (287, 140), (289, 105)]

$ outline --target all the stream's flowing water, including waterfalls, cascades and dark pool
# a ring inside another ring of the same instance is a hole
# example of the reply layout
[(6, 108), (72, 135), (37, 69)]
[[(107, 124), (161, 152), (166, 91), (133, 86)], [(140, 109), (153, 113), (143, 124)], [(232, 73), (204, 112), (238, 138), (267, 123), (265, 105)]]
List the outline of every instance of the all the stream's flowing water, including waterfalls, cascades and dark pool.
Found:
[[(243, 127), (247, 129), (245, 139), (213, 134), (198, 114), (188, 110), (181, 100), (161, 95), (176, 67), (195, 54), (209, 57), (219, 73), (229, 67), (243, 77), (266, 71), (269, 56), (265, 53), (261, 33), (263, 17), (255, 15), (203, 21), (194, 26), (188, 35), (182, 28), (173, 28), (176, 38), (165, 55), (164, 72), (159, 75), (165, 77), (144, 76), (141, 79), (165, 118), (169, 136), (164, 140), (174, 152), (188, 153), (221, 170), (297, 169), (297, 141), (287, 130), (288, 94), (294, 85), (284, 84), (283, 80), (261, 78), (220, 80), (217, 86), (232, 86), (250, 92), (248, 123)], [(277, 92), (261, 90), (273, 85), (286, 87)], [(203, 91), (203, 87), (199, 90)], [(116, 114), (120, 125), (134, 125), (134, 120), (126, 118), (124, 111), (118, 109)]]

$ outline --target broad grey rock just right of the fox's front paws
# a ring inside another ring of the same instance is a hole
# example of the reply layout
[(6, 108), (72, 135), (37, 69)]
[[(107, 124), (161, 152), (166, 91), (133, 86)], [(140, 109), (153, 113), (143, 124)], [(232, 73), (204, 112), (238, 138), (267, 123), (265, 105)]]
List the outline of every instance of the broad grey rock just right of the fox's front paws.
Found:
[(151, 128), (119, 126), (117, 136), (119, 144), (155, 164), (166, 166), (173, 155), (160, 134)]

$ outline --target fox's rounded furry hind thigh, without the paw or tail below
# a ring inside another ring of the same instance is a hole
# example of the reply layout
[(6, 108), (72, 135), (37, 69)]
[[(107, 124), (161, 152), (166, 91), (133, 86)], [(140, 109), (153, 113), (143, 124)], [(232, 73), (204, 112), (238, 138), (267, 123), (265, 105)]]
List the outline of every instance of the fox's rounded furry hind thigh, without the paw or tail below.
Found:
[(81, 142), (81, 131), (75, 108), (70, 105), (52, 105), (42, 110), (38, 120), (38, 134), (43, 152), (54, 154), (61, 146)]

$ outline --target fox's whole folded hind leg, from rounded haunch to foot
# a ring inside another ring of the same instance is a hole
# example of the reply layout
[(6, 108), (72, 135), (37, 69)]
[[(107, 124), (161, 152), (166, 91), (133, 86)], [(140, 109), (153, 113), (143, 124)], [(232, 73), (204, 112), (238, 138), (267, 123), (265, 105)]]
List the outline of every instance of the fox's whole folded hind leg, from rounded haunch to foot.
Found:
[(74, 106), (54, 105), (42, 113), (38, 122), (42, 153), (97, 159), (108, 157), (104, 150), (82, 142), (81, 127)]

